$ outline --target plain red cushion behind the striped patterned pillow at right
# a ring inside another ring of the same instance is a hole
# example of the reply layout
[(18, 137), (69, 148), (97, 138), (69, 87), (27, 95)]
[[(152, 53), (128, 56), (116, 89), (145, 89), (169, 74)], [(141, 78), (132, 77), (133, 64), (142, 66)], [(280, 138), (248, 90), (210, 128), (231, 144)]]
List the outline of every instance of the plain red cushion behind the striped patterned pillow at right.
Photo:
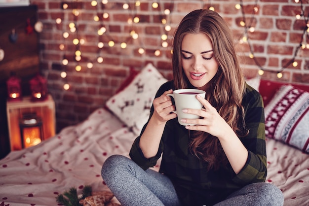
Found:
[(291, 83), (275, 82), (275, 81), (261, 79), (259, 92), (263, 97), (264, 106), (266, 106), (270, 102), (271, 98), (279, 90), (279, 88), (282, 85), (286, 85), (286, 84), (293, 85), (296, 88), (309, 92), (309, 85), (291, 84)]

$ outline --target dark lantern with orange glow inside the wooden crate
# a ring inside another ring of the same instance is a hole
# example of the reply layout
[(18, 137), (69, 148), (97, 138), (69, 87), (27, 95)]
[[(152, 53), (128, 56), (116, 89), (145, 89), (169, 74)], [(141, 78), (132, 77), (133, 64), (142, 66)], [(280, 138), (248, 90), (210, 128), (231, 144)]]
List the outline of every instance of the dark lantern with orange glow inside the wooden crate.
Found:
[(19, 121), (19, 128), (23, 148), (35, 146), (44, 139), (42, 120), (36, 114), (24, 114)]

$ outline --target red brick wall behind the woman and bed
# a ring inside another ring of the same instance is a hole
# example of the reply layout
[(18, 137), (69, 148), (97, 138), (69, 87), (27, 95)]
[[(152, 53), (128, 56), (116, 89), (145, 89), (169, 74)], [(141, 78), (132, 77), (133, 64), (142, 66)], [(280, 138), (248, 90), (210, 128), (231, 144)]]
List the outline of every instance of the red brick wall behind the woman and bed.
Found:
[[(134, 1), (109, 0), (102, 4), (98, 0), (97, 6), (92, 6), (90, 0), (32, 0), (32, 4), (39, 7), (38, 18), (44, 25), (40, 33), (40, 60), (43, 74), (48, 79), (48, 89), (56, 102), (57, 131), (62, 128), (77, 124), (87, 118), (96, 108), (104, 103), (115, 93), (121, 82), (128, 76), (129, 68), (143, 68), (151, 62), (168, 79), (171, 79), (170, 70), (170, 41), (171, 36), (182, 17), (193, 9), (208, 8), (213, 6), (230, 24), (235, 37), (236, 48), (242, 61), (246, 75), (258, 75), (259, 67), (249, 57), (248, 42), (239, 43), (244, 33), (240, 25), (243, 20), (241, 9), (236, 9), (238, 0), (159, 0), (159, 7), (153, 8), (155, 0), (140, 0), (140, 6), (134, 6)], [(69, 9), (61, 8), (63, 2), (68, 2)], [(123, 3), (130, 2), (129, 9), (123, 9)], [(211, 2), (211, 4), (209, 4)], [(244, 0), (243, 11), (247, 25), (251, 21), (255, 0)], [(77, 18), (72, 13), (72, 8), (77, 8)], [(170, 14), (165, 15), (164, 9), (170, 9)], [(257, 62), (266, 70), (262, 78), (285, 82), (309, 84), (309, 48), (300, 49), (295, 61), (296, 67), (289, 65), (284, 69), (283, 77), (278, 79), (276, 74), (288, 61), (293, 58), (306, 28), (304, 17), (296, 19), (301, 14), (301, 3), (294, 0), (259, 0), (258, 11), (254, 15), (252, 25), (254, 32), (248, 32), (251, 48)], [(307, 18), (309, 12), (308, 0), (303, 0), (303, 10)], [(103, 13), (109, 17), (102, 18)], [(99, 14), (101, 20), (94, 21), (94, 16)], [(128, 18), (139, 17), (140, 22), (129, 24)], [(56, 19), (62, 19), (60, 24)], [(166, 32), (161, 24), (161, 18), (166, 18), (171, 31)], [(69, 23), (77, 25), (78, 37), (84, 39), (84, 44), (79, 45), (81, 60), (75, 61), (77, 46), (72, 40), (77, 33), (70, 32)], [(97, 30), (104, 25), (106, 33), (98, 35)], [(138, 39), (132, 39), (132, 28), (139, 34)], [(64, 39), (62, 34), (70, 35)], [(169, 46), (163, 48), (161, 35), (167, 34)], [(308, 38), (308, 36), (307, 36)], [(108, 41), (113, 39), (115, 46), (108, 46)], [(99, 41), (104, 47), (99, 49)], [(120, 48), (120, 43), (126, 42), (127, 47)], [(65, 49), (60, 50), (59, 45), (64, 43)], [(309, 43), (309, 39), (307, 39)], [(143, 47), (144, 54), (138, 49)], [(159, 50), (158, 56), (154, 51)], [(103, 63), (97, 63), (96, 58), (103, 57)], [(67, 58), (69, 64), (62, 65), (62, 59)], [(88, 62), (93, 62), (93, 68), (86, 67)], [(81, 66), (76, 71), (77, 63)], [(60, 73), (67, 72), (67, 77), (62, 78)], [(69, 90), (64, 90), (63, 85), (70, 84)]]

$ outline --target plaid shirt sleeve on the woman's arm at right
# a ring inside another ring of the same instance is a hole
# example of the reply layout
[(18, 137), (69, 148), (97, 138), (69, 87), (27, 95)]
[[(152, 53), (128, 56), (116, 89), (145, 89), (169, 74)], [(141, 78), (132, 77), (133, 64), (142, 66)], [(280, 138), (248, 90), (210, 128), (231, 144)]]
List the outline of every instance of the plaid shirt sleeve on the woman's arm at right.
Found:
[(263, 99), (256, 90), (247, 86), (247, 93), (242, 104), (249, 134), (240, 139), (248, 150), (248, 159), (233, 181), (239, 184), (264, 182), (267, 175), (267, 159)]

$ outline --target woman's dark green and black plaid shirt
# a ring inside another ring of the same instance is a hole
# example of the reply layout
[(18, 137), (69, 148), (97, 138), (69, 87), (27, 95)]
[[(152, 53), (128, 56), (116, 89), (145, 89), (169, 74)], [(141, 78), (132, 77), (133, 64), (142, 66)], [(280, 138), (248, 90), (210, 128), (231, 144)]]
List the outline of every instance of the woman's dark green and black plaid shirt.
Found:
[[(174, 89), (172, 81), (163, 84), (155, 97), (161, 96), (169, 89)], [(245, 122), (249, 135), (240, 137), (240, 140), (248, 150), (248, 159), (238, 174), (233, 172), (230, 165), (228, 168), (207, 171), (206, 163), (196, 158), (188, 149), (189, 131), (178, 123), (177, 118), (166, 123), (155, 157), (150, 159), (144, 157), (139, 147), (140, 136), (132, 145), (130, 157), (141, 168), (147, 170), (155, 166), (162, 154), (159, 172), (171, 179), (184, 206), (209, 206), (221, 202), (232, 192), (247, 184), (264, 182), (267, 175), (262, 97), (247, 85), (242, 105), (245, 109)], [(153, 112), (154, 107), (151, 108), (151, 115)]]

